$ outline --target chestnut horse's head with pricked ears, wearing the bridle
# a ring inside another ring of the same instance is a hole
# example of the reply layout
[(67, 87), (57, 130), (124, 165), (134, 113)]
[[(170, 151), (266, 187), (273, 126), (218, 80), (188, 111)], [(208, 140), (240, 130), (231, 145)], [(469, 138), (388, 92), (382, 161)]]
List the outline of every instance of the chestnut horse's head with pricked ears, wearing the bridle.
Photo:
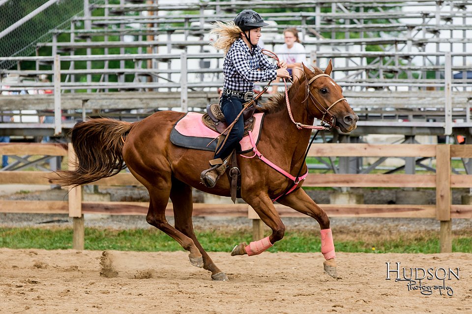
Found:
[(311, 71), (303, 64), (305, 104), (310, 115), (339, 127), (343, 132), (351, 132), (356, 128), (359, 117), (344, 98), (341, 86), (329, 76), (332, 69), (331, 60), (323, 72), (318, 70), (320, 73)]

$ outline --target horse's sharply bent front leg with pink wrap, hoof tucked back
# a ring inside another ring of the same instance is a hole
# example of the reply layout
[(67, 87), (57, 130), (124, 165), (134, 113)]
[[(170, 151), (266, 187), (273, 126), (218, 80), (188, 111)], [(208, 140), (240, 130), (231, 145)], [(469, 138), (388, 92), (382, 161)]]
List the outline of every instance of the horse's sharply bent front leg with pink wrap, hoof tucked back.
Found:
[(231, 252), (235, 255), (257, 255), (264, 252), (269, 247), (273, 246), (275, 242), (281, 240), (285, 234), (285, 226), (280, 219), (277, 210), (266, 193), (259, 193), (245, 198), (245, 201), (252, 206), (264, 223), (272, 229), (272, 234), (251, 243), (239, 243)]

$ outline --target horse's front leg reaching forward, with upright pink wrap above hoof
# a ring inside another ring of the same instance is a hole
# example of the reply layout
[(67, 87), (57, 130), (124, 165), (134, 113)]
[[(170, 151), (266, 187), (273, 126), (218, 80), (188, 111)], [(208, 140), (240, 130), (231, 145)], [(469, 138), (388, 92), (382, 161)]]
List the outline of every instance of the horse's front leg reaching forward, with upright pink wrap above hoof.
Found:
[(321, 228), (321, 253), (324, 255), (324, 271), (333, 278), (338, 278), (336, 270), (336, 254), (334, 252), (333, 235), (329, 228), (329, 218), (326, 212), (319, 207), (302, 188), (281, 197), (278, 203), (295, 209), (305, 215), (313, 217), (318, 221)]

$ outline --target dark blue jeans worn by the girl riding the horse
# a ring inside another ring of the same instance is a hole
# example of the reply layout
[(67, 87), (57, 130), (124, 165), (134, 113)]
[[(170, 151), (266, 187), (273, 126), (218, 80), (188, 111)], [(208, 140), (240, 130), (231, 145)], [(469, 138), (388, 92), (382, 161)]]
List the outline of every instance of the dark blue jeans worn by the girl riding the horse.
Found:
[[(237, 115), (242, 110), (243, 103), (245, 103), (245, 101), (244, 99), (241, 99), (241, 98), (237, 98), (234, 96), (227, 96), (227, 95), (221, 96), (220, 98), (221, 111), (223, 111), (223, 114), (225, 115), (225, 118), (226, 118), (226, 123), (228, 125), (230, 125), (233, 121), (235, 121)], [(243, 135), (244, 135), (244, 119), (241, 114), (241, 116), (239, 117), (235, 125), (233, 126), (233, 129), (227, 135), (228, 139), (226, 140), (226, 143), (223, 146), (223, 149), (221, 149), (221, 151), (215, 155), (215, 158), (224, 159), (228, 157), (228, 155), (230, 155), (234, 149), (240, 150), (241, 146), (239, 145), (239, 141), (242, 139)]]

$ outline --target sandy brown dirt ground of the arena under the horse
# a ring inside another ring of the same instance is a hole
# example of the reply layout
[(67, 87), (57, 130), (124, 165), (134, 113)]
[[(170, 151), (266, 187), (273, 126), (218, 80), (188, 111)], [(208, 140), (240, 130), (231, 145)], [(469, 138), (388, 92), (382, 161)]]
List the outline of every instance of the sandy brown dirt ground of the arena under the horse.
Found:
[[(321, 253), (210, 256), (228, 282), (212, 281), (183, 251), (2, 248), (0, 313), (472, 313), (472, 254), (337, 253), (340, 279), (323, 273)], [(395, 273), (386, 280), (386, 262), (400, 262), (407, 277), (410, 268), (439, 277), (459, 268), (459, 280), (425, 279), (426, 295)]]

